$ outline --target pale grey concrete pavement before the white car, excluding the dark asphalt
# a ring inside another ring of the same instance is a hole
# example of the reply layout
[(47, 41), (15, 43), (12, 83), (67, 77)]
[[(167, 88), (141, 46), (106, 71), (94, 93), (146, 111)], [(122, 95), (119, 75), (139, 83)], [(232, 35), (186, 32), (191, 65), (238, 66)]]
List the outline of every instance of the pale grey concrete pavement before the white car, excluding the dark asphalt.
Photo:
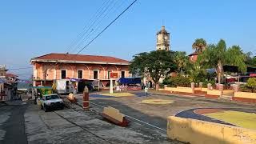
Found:
[[(80, 106), (73, 109), (45, 113), (38, 106), (29, 105), (26, 114), (28, 143), (179, 143), (166, 138), (166, 134), (151, 134), (143, 126), (132, 123), (138, 130), (102, 121), (91, 111)], [(141, 128), (141, 129), (140, 129)]]

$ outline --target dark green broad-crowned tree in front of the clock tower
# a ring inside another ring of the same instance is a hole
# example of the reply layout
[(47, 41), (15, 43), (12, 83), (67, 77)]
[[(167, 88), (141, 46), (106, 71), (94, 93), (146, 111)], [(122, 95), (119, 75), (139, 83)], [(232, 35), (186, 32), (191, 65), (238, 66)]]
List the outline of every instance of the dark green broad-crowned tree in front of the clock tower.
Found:
[(131, 74), (152, 78), (158, 90), (159, 79), (176, 70), (176, 67), (173, 51), (155, 50), (134, 55), (129, 70)]

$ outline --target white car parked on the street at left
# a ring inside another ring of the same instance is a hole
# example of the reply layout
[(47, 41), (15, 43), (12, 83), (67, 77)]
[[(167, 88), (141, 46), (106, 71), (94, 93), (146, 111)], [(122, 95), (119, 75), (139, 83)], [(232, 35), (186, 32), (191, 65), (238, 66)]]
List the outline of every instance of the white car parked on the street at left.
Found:
[(46, 94), (42, 96), (41, 110), (52, 110), (52, 109), (64, 109), (64, 102), (58, 96), (58, 94)]

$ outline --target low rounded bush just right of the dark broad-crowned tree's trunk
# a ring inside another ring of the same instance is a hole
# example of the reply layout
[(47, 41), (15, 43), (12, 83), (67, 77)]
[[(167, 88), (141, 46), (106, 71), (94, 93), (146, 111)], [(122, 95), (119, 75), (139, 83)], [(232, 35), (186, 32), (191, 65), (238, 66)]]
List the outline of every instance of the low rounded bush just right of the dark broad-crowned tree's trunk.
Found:
[(166, 78), (163, 80), (162, 84), (172, 86), (172, 87), (190, 86), (190, 78), (186, 78), (182, 76)]

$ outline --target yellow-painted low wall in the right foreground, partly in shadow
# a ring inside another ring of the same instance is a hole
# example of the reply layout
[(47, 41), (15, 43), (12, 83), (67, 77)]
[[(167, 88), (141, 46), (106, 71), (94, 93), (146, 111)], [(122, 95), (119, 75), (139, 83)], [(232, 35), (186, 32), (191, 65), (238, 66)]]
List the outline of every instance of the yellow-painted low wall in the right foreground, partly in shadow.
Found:
[(167, 119), (167, 135), (191, 144), (256, 143), (256, 130), (174, 116)]

